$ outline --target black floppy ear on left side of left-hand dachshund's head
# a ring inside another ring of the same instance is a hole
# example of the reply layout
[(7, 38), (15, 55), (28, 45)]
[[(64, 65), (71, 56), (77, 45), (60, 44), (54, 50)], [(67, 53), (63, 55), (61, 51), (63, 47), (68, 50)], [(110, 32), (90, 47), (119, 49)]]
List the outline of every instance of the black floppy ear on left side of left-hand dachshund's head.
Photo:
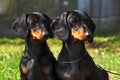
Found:
[(12, 28), (15, 34), (20, 38), (25, 38), (28, 35), (28, 27), (26, 25), (27, 15), (22, 15), (13, 24)]

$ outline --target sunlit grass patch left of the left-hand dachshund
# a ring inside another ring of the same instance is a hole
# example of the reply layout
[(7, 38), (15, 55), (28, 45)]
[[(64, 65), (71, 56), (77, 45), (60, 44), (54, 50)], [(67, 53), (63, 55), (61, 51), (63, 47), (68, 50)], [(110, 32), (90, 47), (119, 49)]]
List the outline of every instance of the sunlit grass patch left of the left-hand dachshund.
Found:
[(19, 61), (23, 49), (21, 39), (0, 39), (0, 80), (20, 80)]

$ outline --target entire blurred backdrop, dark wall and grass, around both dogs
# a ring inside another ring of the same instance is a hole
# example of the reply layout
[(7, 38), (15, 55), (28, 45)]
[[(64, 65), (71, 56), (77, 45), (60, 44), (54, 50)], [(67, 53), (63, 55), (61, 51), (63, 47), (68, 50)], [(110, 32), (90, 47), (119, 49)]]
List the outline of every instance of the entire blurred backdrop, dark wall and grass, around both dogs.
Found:
[[(20, 80), (25, 42), (12, 31), (16, 18), (37, 11), (53, 19), (74, 9), (87, 12), (96, 24), (94, 41), (86, 44), (95, 63), (120, 73), (120, 0), (0, 0), (0, 80)], [(61, 41), (53, 38), (47, 42), (57, 59)], [(110, 80), (120, 80), (120, 76), (110, 74)]]

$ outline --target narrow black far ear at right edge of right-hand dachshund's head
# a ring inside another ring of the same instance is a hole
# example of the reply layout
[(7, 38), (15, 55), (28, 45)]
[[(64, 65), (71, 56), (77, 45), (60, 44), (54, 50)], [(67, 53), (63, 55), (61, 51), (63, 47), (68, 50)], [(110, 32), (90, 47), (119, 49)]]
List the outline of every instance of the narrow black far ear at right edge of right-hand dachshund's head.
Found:
[(89, 31), (91, 33), (91, 35), (88, 37), (88, 42), (91, 43), (91, 42), (93, 42), (93, 36), (94, 36), (94, 31), (95, 31), (96, 26), (95, 26), (94, 22), (92, 21), (92, 19), (88, 16), (88, 14), (86, 12), (83, 12), (83, 13), (88, 18), (88, 20), (86, 22), (87, 22)]

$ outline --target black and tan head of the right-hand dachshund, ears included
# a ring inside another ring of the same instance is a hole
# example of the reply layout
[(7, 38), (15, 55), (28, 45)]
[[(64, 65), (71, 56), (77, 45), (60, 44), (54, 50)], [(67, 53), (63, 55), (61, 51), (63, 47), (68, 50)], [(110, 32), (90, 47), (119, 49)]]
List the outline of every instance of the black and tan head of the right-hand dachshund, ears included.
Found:
[(51, 28), (59, 39), (65, 41), (69, 37), (88, 42), (93, 41), (95, 24), (83, 11), (68, 11), (62, 13), (51, 23)]

